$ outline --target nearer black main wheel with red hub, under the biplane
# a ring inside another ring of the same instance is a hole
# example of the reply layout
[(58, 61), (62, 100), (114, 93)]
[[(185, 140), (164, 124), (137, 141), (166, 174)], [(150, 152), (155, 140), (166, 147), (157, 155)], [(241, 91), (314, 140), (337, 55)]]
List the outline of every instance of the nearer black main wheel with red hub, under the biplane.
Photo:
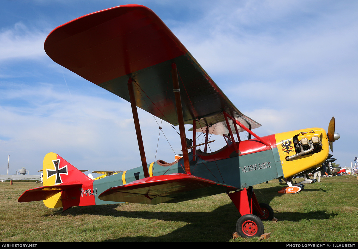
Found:
[(256, 215), (241, 216), (236, 223), (236, 231), (243, 238), (252, 238), (263, 234), (263, 223)]

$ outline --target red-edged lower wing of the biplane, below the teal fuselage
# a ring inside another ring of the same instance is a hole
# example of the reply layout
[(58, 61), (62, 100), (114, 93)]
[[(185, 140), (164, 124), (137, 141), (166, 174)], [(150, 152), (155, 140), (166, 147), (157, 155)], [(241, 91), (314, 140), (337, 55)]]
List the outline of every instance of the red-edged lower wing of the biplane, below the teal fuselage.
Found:
[(111, 187), (98, 198), (104, 201), (159, 204), (193, 200), (234, 190), (237, 190), (237, 187), (193, 175), (170, 174)]

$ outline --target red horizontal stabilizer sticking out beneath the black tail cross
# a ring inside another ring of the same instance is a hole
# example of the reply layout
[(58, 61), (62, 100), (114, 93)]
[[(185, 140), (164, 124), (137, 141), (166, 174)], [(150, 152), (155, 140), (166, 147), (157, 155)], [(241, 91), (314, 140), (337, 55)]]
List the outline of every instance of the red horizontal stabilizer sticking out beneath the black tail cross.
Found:
[(73, 189), (74, 187), (81, 187), (81, 186), (82, 184), (67, 184), (67, 185), (37, 187), (35, 189), (26, 190), (19, 197), (18, 201), (19, 202), (44, 201), (63, 190), (69, 190), (69, 189)]

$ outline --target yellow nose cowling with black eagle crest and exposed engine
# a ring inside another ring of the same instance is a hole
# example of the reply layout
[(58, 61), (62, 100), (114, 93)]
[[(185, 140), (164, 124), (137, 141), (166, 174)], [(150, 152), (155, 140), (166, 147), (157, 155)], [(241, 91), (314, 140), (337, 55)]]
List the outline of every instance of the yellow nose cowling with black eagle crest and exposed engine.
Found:
[(284, 178), (320, 166), (328, 157), (329, 142), (322, 128), (275, 134)]

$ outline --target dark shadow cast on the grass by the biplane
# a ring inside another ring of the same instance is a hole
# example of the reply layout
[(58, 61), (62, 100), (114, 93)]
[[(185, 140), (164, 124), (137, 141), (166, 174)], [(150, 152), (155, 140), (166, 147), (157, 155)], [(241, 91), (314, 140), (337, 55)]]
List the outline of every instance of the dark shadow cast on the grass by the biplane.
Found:
[[(233, 203), (219, 206), (211, 212), (193, 212), (193, 211), (124, 211), (116, 208), (125, 204), (109, 204), (99, 206), (73, 207), (64, 212), (54, 211), (57, 215), (72, 216), (77, 215), (103, 215), (120, 218), (135, 218), (145, 220), (162, 220), (169, 222), (183, 222), (184, 226), (170, 231), (162, 236), (123, 236), (112, 240), (103, 240), (103, 242), (226, 242), (232, 237), (236, 230), (237, 219), (240, 213)], [(170, 204), (167, 204), (170, 205)], [(299, 212), (275, 213), (275, 217), (280, 221), (300, 221), (310, 219), (329, 219), (337, 214), (329, 214), (326, 210)], [(265, 223), (269, 221), (263, 222)], [(153, 229), (153, 228), (151, 228)], [(190, 234), (190, 236), (188, 236)]]

